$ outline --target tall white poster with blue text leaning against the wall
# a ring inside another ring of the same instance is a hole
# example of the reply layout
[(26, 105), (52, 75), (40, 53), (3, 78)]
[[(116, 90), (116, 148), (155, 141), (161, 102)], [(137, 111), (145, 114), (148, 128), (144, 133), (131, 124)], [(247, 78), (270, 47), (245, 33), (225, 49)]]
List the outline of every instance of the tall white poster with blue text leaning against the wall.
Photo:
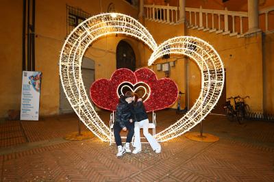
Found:
[(20, 120), (38, 120), (42, 73), (23, 71)]

